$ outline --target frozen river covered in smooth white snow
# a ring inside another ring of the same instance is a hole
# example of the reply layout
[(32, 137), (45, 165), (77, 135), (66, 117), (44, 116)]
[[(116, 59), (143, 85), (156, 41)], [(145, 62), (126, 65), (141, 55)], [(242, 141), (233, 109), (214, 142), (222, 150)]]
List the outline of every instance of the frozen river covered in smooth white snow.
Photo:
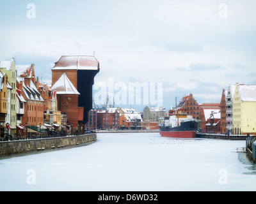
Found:
[(255, 191), (245, 141), (98, 133), (81, 147), (0, 159), (0, 191)]

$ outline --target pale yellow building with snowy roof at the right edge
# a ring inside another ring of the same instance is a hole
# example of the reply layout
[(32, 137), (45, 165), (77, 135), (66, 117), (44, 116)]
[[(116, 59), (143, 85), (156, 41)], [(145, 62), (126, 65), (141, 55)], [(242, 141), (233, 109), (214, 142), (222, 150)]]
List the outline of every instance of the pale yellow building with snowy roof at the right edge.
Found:
[(236, 84), (233, 98), (233, 133), (256, 133), (256, 85)]

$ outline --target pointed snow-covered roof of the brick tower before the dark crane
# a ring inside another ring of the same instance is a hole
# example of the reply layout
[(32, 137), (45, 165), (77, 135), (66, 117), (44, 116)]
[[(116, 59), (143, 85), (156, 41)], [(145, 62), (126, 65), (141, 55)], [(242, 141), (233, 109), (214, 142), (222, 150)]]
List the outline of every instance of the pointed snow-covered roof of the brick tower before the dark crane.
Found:
[(80, 94), (72, 82), (70, 82), (66, 73), (63, 73), (55, 84), (52, 85), (52, 91), (56, 91), (57, 94)]

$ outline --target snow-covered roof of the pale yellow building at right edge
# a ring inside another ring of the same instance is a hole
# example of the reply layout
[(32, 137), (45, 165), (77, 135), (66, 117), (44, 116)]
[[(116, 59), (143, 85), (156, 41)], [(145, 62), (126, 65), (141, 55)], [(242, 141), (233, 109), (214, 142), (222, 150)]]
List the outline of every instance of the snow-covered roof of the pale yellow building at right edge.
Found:
[(241, 101), (256, 101), (256, 85), (239, 85)]

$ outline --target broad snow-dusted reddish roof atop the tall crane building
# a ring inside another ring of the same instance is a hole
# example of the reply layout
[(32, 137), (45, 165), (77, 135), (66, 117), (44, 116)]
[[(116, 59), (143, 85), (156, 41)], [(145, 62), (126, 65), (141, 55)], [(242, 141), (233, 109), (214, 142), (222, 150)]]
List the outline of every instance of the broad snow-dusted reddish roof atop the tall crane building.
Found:
[(94, 56), (63, 55), (52, 69), (98, 70), (99, 62)]

